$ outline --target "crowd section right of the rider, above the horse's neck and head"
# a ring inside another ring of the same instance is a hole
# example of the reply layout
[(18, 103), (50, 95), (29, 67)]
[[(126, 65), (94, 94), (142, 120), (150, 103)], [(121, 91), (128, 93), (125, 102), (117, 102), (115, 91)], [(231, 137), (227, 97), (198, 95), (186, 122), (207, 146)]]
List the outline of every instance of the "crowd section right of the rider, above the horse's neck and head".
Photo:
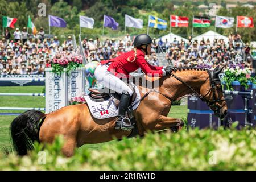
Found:
[[(237, 36), (237, 35), (236, 35)], [(249, 43), (243, 46), (240, 39), (230, 36), (229, 42), (224, 39), (193, 40), (189, 37), (188, 42), (177, 42), (163, 44), (166, 48), (166, 59), (174, 67), (200, 67), (214, 68), (217, 65), (229, 67), (234, 63), (241, 63), (245, 67), (252, 67)]]

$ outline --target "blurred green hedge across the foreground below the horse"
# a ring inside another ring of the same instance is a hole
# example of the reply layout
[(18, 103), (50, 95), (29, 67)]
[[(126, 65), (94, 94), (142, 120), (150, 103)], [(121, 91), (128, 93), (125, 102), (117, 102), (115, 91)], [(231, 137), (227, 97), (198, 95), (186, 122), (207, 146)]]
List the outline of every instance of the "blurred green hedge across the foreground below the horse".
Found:
[[(0, 170), (255, 170), (256, 130), (182, 130), (123, 139), (102, 150), (76, 150), (61, 155), (63, 140), (36, 144), (29, 156), (0, 160)], [(46, 154), (46, 164), (42, 154)]]

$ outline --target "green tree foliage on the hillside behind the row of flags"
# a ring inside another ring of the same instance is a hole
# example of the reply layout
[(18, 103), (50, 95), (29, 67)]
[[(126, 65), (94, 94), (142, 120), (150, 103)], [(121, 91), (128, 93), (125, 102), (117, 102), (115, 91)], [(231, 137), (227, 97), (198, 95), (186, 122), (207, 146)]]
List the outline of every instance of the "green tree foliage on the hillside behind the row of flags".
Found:
[[(46, 4), (46, 16), (38, 16), (38, 4), (43, 2)], [(18, 0), (6, 1), (0, 0), (0, 14), (2, 16), (10, 16), (18, 18), (15, 27), (26, 27), (27, 16), (30, 15), (36, 27), (44, 27), (48, 30), (48, 15), (59, 16), (67, 22), (67, 28), (51, 27), (53, 34), (79, 34), (79, 15), (89, 16), (95, 20), (94, 29), (82, 28), (82, 34), (102, 34), (103, 16), (112, 16), (118, 23), (118, 30), (111, 30), (104, 28), (104, 34), (123, 35), (125, 30), (125, 14), (135, 18), (143, 19), (143, 28), (136, 29), (126, 27), (126, 32), (130, 34), (140, 34), (147, 32), (148, 15), (158, 16), (168, 22), (166, 30), (158, 30), (150, 28), (150, 34), (164, 35), (170, 31), (170, 14), (189, 17), (189, 27), (176, 28), (172, 27), (171, 31), (187, 38), (192, 34), (192, 17), (193, 15), (207, 15), (204, 10), (197, 8), (200, 4), (208, 5), (209, 1), (167, 1), (167, 0)], [(225, 6), (225, 1), (216, 1), (222, 6)], [(242, 3), (240, 3), (242, 5)], [(255, 5), (256, 3), (251, 2)], [(174, 9), (174, 5), (179, 5), (179, 8)], [(233, 9), (226, 9), (225, 7), (218, 11), (218, 15), (235, 17), (237, 15), (253, 16), (256, 21), (256, 11), (246, 7), (238, 6)], [(193, 35), (202, 34), (208, 30), (215, 30), (214, 17), (212, 17), (212, 24), (208, 28), (194, 28)], [(217, 28), (217, 32), (224, 35), (229, 35), (234, 32), (236, 26), (232, 28)], [(11, 30), (13, 31), (13, 30)], [(47, 32), (47, 31), (46, 31)], [(242, 36), (245, 42), (256, 39), (255, 28), (238, 28), (238, 33)]]

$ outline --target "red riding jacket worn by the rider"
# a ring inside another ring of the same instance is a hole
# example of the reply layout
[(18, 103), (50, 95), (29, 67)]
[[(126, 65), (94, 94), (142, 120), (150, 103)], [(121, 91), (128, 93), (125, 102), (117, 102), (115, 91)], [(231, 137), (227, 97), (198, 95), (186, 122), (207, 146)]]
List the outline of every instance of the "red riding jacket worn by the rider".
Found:
[[(145, 60), (145, 54), (137, 49), (137, 56), (134, 62), (130, 62), (134, 59), (134, 51), (129, 51), (124, 53), (121, 56), (115, 57), (110, 60), (101, 61), (101, 64), (106, 64), (111, 62), (109, 65), (108, 71), (113, 73), (117, 77), (126, 77), (129, 78), (129, 73), (134, 72), (136, 69), (141, 68), (142, 71), (148, 76), (154, 77), (154, 76), (163, 76), (163, 67), (156, 67), (150, 65)], [(119, 74), (118, 74), (119, 73)], [(120, 74), (121, 73), (121, 74)], [(124, 75), (123, 75), (124, 74)]]

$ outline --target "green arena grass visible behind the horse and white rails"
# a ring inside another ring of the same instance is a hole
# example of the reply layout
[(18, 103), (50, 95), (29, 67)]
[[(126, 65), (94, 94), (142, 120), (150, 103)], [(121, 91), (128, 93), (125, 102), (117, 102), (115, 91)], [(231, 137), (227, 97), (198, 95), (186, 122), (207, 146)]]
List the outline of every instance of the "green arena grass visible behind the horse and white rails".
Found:
[[(1, 93), (42, 93), (43, 86), (1, 86)], [(39, 96), (0, 96), (0, 107), (44, 107), (45, 98)], [(22, 113), (23, 111), (0, 110), (1, 113)], [(182, 118), (187, 116), (187, 106), (172, 106), (169, 117)], [(0, 116), (0, 148), (11, 147), (9, 127), (16, 116)], [(115, 141), (88, 144), (82, 148), (100, 150), (103, 146), (111, 145)], [(0, 151), (2, 152), (2, 151)]]

